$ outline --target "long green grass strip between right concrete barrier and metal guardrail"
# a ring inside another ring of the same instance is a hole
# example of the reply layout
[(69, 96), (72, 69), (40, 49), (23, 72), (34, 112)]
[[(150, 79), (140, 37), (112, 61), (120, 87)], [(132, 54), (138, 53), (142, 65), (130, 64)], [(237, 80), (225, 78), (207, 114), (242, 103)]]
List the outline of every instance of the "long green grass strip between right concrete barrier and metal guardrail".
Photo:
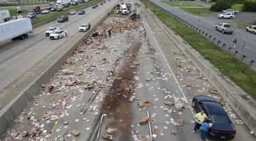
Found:
[(141, 0), (152, 12), (167, 25), (171, 30), (175, 31), (187, 43), (197, 50), (205, 59), (209, 60), (223, 75), (229, 77), (245, 92), (256, 98), (256, 73), (240, 62), (237, 58), (229, 55), (220, 47), (205, 39), (202, 35), (197, 34), (186, 24), (175, 20), (172, 16), (166, 14), (162, 9), (152, 5), (147, 0)]

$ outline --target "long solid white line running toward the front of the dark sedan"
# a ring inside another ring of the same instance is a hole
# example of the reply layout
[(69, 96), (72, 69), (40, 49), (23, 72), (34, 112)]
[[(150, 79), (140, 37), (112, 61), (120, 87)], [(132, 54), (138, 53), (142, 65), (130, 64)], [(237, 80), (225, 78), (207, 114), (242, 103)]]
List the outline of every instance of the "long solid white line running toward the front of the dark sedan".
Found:
[[(145, 20), (144, 16), (142, 16), (142, 17)], [(156, 38), (154, 37), (154, 35), (153, 35), (153, 33), (152, 33), (151, 29), (150, 29), (150, 26), (147, 24), (147, 20), (145, 20), (145, 24), (147, 25), (147, 28), (149, 28), (150, 33), (152, 34), (152, 37), (154, 38), (154, 41), (156, 42), (156, 45), (158, 46), (158, 49), (160, 50), (160, 52), (162, 54), (162, 57), (165, 59), (165, 62), (167, 62), (167, 59), (165, 58), (165, 55), (162, 53), (162, 49), (160, 48), (160, 45), (156, 41)], [(182, 95), (184, 96), (185, 100), (187, 101), (186, 96), (185, 96), (185, 94), (184, 94), (184, 92), (182, 90), (182, 87), (180, 87), (180, 84), (178, 83), (177, 78), (175, 77), (175, 75), (174, 75), (174, 73), (173, 73), (173, 71), (172, 71), (172, 69), (171, 69), (171, 67), (169, 65), (169, 62), (167, 62), (167, 64), (168, 64), (169, 70), (171, 71), (171, 75), (173, 75), (173, 78), (175, 79), (175, 82), (177, 83), (177, 86), (179, 87), (180, 91), (182, 92)], [(193, 112), (192, 112), (191, 109), (190, 109), (190, 112), (191, 112), (192, 116), (194, 117)], [(206, 139), (206, 141), (208, 141), (207, 138), (205, 138), (205, 139)]]

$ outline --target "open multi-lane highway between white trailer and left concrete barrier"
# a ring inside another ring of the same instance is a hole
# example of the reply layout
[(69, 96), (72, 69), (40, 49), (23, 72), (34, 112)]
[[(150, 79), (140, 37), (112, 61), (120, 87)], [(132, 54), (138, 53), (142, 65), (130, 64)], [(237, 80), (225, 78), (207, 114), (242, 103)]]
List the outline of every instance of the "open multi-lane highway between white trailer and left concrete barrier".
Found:
[[(63, 47), (67, 43), (75, 42), (85, 33), (79, 33), (79, 26), (92, 22), (102, 12), (107, 12), (110, 7), (113, 7), (117, 1), (107, 1), (104, 5), (100, 5), (96, 9), (88, 7), (85, 9), (84, 15), (70, 16), (68, 22), (58, 23), (57, 20), (48, 23), (40, 28), (35, 28), (33, 34), (29, 34), (29, 38), (23, 41), (12, 41), (7, 45), (0, 47), (0, 87), (4, 87), (20, 73), (27, 70), (29, 66), (38, 62), (44, 56), (55, 52), (56, 48)], [(49, 27), (59, 27), (68, 31), (68, 38), (59, 40), (51, 40), (46, 37), (44, 32)], [(25, 52), (24, 52), (25, 51)], [(4, 94), (0, 98), (6, 98)], [(12, 98), (10, 98), (12, 100)], [(10, 102), (10, 101), (9, 101)], [(8, 101), (3, 100), (1, 104), (8, 104)]]

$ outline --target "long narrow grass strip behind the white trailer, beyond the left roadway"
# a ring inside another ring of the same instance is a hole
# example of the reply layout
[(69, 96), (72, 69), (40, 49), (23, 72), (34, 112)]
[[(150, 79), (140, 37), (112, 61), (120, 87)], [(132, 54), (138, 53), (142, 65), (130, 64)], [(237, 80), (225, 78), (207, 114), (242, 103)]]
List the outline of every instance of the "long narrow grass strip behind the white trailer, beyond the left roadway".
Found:
[(57, 16), (67, 14), (68, 12), (70, 12), (71, 9), (74, 9), (74, 10), (82, 9), (82, 8), (86, 7), (87, 5), (91, 5), (92, 3), (96, 3), (96, 2), (99, 2), (99, 1), (102, 1), (102, 0), (89, 1), (87, 3), (81, 3), (81, 4), (76, 5), (76, 6), (68, 7), (68, 8), (63, 9), (62, 12), (55, 12), (55, 13), (47, 14), (46, 16), (40, 16), (40, 17), (36, 18), (35, 20), (31, 20), (31, 22), (32, 22), (32, 24), (38, 24), (40, 22), (44, 22), (45, 20), (50, 20), (50, 19), (55, 18)]

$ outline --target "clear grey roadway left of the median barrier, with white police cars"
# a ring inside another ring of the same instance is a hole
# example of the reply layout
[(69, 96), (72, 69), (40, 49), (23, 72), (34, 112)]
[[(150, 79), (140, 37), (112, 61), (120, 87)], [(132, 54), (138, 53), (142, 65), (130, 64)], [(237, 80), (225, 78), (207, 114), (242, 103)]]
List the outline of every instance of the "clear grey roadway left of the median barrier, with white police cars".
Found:
[[(100, 7), (98, 9), (89, 9), (90, 11), (94, 12), (92, 14), (85, 14), (83, 16), (76, 15), (74, 20), (72, 18), (68, 22), (64, 23), (57, 23), (57, 22), (51, 22), (50, 24), (47, 24), (48, 27), (50, 26), (59, 26), (61, 29), (65, 29), (68, 31), (69, 38), (74, 37), (81, 37), (84, 33), (79, 33), (79, 26), (81, 24), (86, 24), (87, 22), (91, 22), (91, 20), (94, 20), (97, 16), (100, 16), (102, 12), (105, 12), (104, 10), (110, 8), (112, 5), (115, 4), (115, 1), (111, 1), (110, 3), (106, 3), (105, 6)], [(100, 10), (101, 9), (101, 10)], [(84, 17), (84, 18), (81, 18)], [(86, 18), (85, 18), (86, 17)], [(72, 22), (72, 24), (70, 24)], [(54, 23), (54, 24), (53, 24)], [(47, 28), (48, 28), (47, 27)], [(46, 31), (47, 28), (44, 28), (38, 32), (37, 35), (32, 35), (30, 39), (25, 40), (24, 42), (18, 41), (18, 43), (12, 43), (12, 45), (8, 45), (10, 48), (12, 47), (12, 51), (9, 51), (9, 49), (6, 49), (5, 52), (1, 52), (1, 54), (4, 56), (1, 58), (1, 78), (7, 79), (11, 81), (14, 77), (16, 77), (16, 73), (22, 73), (25, 71), (25, 69), (29, 66), (31, 66), (36, 60), (42, 58), (47, 52), (49, 52), (51, 49), (53, 49), (54, 46), (60, 46), (63, 43), (66, 42), (67, 39), (59, 39), (59, 41), (54, 40), (51, 41), (49, 37), (45, 37), (44, 31)], [(77, 33), (77, 34), (76, 34)], [(35, 38), (33, 38), (35, 37)], [(57, 43), (56, 43), (57, 42)], [(26, 52), (23, 52), (23, 49), (26, 49)], [(15, 58), (13, 58), (15, 56)], [(33, 59), (31, 59), (33, 58)], [(12, 64), (10, 64), (12, 63)], [(14, 65), (14, 64), (15, 65)], [(14, 71), (12, 73), (12, 71)], [(5, 73), (11, 73), (10, 75), (6, 76)], [(1, 87), (8, 83), (8, 81), (1, 82)]]

